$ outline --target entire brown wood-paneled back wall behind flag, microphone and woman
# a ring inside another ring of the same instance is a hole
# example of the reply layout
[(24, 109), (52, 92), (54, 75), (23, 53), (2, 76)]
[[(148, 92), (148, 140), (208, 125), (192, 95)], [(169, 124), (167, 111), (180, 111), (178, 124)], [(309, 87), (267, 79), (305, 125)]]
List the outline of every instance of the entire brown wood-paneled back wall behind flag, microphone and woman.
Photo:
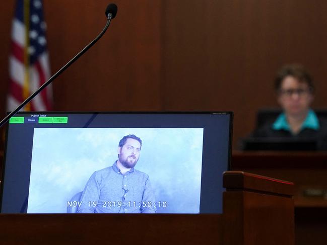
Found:
[[(109, 1), (110, 2), (110, 1)], [(107, 0), (44, 1), (52, 74), (103, 28)], [(56, 111), (233, 111), (234, 148), (255, 113), (276, 107), (273, 79), (302, 63), (326, 108), (327, 2), (116, 0), (102, 39), (53, 83)], [(6, 111), (15, 1), (2, 2), (0, 115)]]

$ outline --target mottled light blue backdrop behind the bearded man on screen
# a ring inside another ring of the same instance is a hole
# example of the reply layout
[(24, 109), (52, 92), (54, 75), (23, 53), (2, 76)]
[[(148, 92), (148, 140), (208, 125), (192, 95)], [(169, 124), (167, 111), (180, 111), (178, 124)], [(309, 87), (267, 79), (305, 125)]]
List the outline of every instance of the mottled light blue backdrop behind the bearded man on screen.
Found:
[(36, 128), (28, 213), (65, 213), (94, 171), (112, 166), (119, 140), (142, 139), (136, 169), (147, 173), (159, 213), (199, 213), (202, 128)]

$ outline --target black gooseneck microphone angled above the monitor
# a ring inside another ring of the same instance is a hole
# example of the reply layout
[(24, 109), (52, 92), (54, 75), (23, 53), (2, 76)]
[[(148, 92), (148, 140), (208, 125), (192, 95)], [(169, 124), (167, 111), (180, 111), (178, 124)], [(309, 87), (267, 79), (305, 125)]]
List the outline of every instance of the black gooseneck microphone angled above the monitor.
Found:
[(20, 109), (22, 109), (27, 103), (29, 103), (35, 96), (37, 96), (45, 87), (47, 87), (51, 82), (57, 78), (64, 70), (66, 70), (71, 64), (73, 64), (79, 57), (81, 57), (86, 51), (88, 51), (106, 32), (110, 22), (116, 17), (117, 6), (115, 4), (109, 4), (106, 8), (105, 15), (107, 17), (107, 23), (100, 34), (90, 42), (84, 49), (82, 49), (74, 58), (72, 58), (66, 65), (62, 66), (53, 76), (51, 76), (40, 88), (38, 88), (32, 95), (30, 95), (22, 104), (20, 104), (15, 110), (9, 113), (1, 122), (0, 127), (2, 127), (12, 116), (14, 116)]

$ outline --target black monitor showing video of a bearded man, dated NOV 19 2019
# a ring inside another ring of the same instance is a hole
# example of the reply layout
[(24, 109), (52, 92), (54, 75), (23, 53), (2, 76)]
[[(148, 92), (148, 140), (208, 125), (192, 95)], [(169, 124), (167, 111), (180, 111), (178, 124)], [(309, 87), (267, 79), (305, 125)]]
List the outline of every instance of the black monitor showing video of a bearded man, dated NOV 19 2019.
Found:
[(222, 213), (232, 113), (21, 112), (2, 213)]

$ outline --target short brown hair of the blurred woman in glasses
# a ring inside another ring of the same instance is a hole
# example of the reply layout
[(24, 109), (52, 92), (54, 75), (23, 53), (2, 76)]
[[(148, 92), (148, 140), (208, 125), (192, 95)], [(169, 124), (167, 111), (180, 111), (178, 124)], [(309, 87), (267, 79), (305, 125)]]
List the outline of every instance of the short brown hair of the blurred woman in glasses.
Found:
[(293, 76), (301, 83), (306, 83), (311, 92), (314, 91), (312, 77), (304, 67), (300, 64), (284, 65), (278, 72), (275, 78), (275, 90), (279, 91), (282, 87), (282, 82), (286, 76)]

